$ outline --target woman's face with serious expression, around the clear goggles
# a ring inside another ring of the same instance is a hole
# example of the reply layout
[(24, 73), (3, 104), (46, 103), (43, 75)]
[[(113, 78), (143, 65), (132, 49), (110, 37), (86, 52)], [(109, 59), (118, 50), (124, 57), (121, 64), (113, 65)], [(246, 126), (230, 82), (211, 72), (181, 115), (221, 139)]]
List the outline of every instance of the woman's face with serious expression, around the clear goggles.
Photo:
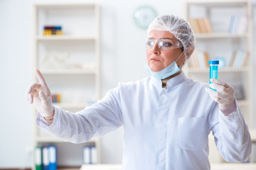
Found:
[[(151, 30), (151, 32), (149, 33), (149, 40), (154, 40), (158, 42), (159, 39), (178, 42), (175, 36), (169, 31)], [(169, 64), (176, 61), (182, 53), (181, 47), (163, 50), (159, 48), (157, 42), (154, 44), (154, 46), (151, 47), (151, 49), (146, 48), (146, 61), (149, 65), (149, 68), (153, 72), (159, 72), (160, 70), (166, 68), (167, 66), (169, 66)], [(181, 67), (181, 64), (183, 64), (184, 61), (185, 58), (182, 54), (182, 56), (176, 61), (178, 67)]]

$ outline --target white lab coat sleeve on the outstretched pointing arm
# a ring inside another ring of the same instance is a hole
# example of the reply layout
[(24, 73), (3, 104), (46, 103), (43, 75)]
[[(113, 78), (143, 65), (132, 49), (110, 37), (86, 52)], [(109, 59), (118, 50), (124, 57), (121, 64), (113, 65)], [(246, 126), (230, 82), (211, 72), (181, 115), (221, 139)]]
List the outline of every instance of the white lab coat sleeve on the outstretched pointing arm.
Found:
[(54, 108), (55, 115), (51, 125), (39, 113), (36, 124), (50, 135), (68, 142), (86, 142), (122, 125), (118, 88), (110, 90), (101, 101), (77, 113), (63, 111), (56, 106)]

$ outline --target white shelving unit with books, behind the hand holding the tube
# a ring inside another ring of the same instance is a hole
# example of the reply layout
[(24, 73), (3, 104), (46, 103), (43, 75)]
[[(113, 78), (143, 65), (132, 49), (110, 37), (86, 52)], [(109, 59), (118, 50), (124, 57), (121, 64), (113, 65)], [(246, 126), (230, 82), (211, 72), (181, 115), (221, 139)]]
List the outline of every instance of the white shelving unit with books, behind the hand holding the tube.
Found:
[[(219, 79), (228, 84), (241, 83), (244, 98), (238, 100), (239, 106), (250, 128), (252, 140), (255, 141), (255, 126), (253, 114), (253, 86), (252, 86), (252, 5), (250, 1), (189, 1), (184, 4), (184, 18), (208, 18), (212, 27), (212, 33), (195, 33), (196, 48), (207, 51), (210, 60), (215, 57), (225, 57), (227, 65), (235, 50), (242, 49), (249, 52), (247, 66), (242, 68), (224, 67), (219, 69)], [(230, 18), (232, 15), (244, 15), (248, 17), (248, 26), (245, 33), (228, 33)], [(208, 68), (184, 68), (188, 77), (208, 83)], [(236, 80), (236, 82), (234, 81)], [(211, 163), (225, 162), (215, 149), (213, 137), (209, 137)], [(216, 157), (219, 155), (219, 157)], [(251, 154), (250, 162), (253, 162)]]

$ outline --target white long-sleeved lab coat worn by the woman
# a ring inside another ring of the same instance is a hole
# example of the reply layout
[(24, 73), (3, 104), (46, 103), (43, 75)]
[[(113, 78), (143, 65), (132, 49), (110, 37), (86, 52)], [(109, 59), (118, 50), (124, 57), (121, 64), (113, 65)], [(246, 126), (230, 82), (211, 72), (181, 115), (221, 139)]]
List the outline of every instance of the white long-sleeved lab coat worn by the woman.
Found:
[[(120, 83), (101, 101), (78, 113), (55, 107), (52, 125), (40, 114), (38, 126), (70, 142), (85, 142), (124, 126), (124, 170), (206, 170), (208, 134), (215, 136), (220, 154), (228, 162), (242, 162), (251, 152), (250, 133), (238, 106), (228, 116), (205, 88), (183, 72), (170, 79), (147, 77)], [(114, 140), (114, 139), (113, 139)]]

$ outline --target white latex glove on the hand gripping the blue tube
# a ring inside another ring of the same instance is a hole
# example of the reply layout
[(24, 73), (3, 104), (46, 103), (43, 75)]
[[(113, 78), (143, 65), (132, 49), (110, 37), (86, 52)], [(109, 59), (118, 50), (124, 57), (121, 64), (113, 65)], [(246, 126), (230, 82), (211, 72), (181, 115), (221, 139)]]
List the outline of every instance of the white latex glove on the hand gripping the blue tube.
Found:
[(212, 98), (213, 101), (218, 103), (221, 111), (227, 110), (235, 102), (235, 89), (233, 86), (219, 79), (210, 79), (210, 81), (212, 82), (210, 88), (216, 89), (217, 91), (206, 88), (206, 92), (210, 94), (210, 98)]

